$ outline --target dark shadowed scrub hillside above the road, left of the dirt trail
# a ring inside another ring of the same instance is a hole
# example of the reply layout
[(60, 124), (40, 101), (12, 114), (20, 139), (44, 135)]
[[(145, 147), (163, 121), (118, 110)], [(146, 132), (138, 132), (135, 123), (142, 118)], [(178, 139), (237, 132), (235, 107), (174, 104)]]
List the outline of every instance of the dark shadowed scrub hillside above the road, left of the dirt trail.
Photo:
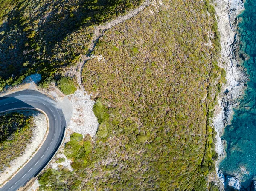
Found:
[[(0, 77), (16, 85), (35, 72), (41, 87), (86, 54), (93, 26), (141, 0), (0, 0)], [(6, 20), (2, 23), (3, 18)], [(1, 90), (1, 88), (0, 88)]]

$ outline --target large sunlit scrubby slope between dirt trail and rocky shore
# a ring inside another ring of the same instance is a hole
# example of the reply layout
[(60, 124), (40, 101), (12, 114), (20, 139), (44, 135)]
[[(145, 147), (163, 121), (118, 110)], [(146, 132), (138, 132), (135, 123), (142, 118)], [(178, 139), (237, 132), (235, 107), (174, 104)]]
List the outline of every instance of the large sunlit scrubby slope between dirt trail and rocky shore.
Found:
[(205, 178), (214, 171), (209, 124), (224, 81), (214, 9), (208, 1), (155, 3), (99, 40), (93, 54), (102, 59), (83, 70), (97, 99), (97, 137), (70, 141), (75, 174), (49, 169), (41, 190), (216, 190)]

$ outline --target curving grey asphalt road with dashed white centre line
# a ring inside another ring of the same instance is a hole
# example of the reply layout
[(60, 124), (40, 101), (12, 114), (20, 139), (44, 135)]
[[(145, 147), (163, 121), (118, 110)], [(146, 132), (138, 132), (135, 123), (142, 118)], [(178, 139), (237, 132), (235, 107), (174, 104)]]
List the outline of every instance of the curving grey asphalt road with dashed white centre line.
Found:
[(0, 97), (0, 112), (15, 108), (38, 108), (49, 118), (49, 134), (35, 156), (0, 191), (16, 191), (37, 176), (52, 159), (64, 137), (66, 121), (56, 102), (38, 91), (25, 90)]

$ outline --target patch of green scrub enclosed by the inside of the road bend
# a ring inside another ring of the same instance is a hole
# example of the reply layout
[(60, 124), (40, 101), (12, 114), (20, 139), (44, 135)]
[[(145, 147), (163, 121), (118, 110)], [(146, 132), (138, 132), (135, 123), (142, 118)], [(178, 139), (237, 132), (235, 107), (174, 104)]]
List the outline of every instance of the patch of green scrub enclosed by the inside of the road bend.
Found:
[(32, 117), (19, 113), (0, 115), (0, 172), (31, 143)]

